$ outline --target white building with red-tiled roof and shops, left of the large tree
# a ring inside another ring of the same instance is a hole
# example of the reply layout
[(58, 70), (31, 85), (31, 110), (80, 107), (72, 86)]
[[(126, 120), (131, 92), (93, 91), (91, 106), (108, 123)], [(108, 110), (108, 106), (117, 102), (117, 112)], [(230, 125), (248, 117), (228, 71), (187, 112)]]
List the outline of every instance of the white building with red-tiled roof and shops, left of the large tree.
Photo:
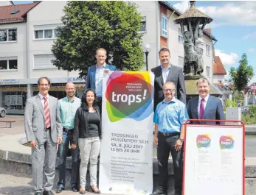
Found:
[[(52, 44), (67, 1), (40, 1), (0, 7), (0, 106), (7, 113), (24, 113), (27, 97), (38, 93), (38, 78), (49, 77), (49, 93), (66, 96), (66, 82), (75, 82), (77, 96), (84, 79), (77, 71), (61, 71), (52, 65)], [(47, 10), (47, 14), (46, 13)]]

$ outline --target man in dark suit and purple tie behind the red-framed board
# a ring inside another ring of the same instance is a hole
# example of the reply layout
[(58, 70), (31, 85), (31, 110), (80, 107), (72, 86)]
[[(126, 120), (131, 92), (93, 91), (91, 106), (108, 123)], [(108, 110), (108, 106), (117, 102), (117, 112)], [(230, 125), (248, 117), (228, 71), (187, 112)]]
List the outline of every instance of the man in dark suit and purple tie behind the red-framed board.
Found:
[[(187, 113), (190, 119), (214, 119), (224, 120), (222, 102), (215, 96), (211, 96), (210, 82), (206, 78), (201, 78), (196, 83), (199, 96), (187, 104)], [(191, 121), (193, 124), (224, 124), (212, 121)]]

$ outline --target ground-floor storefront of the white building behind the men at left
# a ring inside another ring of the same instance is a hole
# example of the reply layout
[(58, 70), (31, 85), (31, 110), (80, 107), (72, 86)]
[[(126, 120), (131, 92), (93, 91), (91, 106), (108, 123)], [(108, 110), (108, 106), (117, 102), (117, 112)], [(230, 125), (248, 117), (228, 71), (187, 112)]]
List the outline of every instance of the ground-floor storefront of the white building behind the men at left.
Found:
[[(86, 83), (83, 79), (76, 77), (49, 78), (51, 87), (49, 94), (58, 99), (66, 96), (66, 82), (74, 82), (76, 86), (75, 96), (81, 97)], [(38, 94), (38, 79), (4, 79), (0, 80), (0, 107), (7, 110), (7, 114), (24, 114), (26, 106), (27, 91), (32, 90), (32, 95)], [(29, 89), (29, 90), (28, 90)]]

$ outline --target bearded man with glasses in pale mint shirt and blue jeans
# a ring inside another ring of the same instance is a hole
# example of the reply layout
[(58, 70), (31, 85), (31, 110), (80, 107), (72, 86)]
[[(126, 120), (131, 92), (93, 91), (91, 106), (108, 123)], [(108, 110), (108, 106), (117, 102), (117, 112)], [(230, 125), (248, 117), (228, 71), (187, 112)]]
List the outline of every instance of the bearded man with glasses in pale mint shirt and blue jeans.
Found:
[[(60, 193), (65, 188), (66, 176), (66, 156), (69, 151), (69, 145), (72, 144), (74, 133), (74, 121), (77, 108), (80, 107), (81, 100), (75, 96), (75, 84), (66, 83), (66, 97), (59, 100), (60, 118), (63, 124), (63, 142), (60, 144), (59, 152), (59, 181), (56, 193)], [(73, 192), (78, 191), (77, 175), (79, 174), (79, 149), (71, 149), (72, 169), (71, 169), (71, 188)]]

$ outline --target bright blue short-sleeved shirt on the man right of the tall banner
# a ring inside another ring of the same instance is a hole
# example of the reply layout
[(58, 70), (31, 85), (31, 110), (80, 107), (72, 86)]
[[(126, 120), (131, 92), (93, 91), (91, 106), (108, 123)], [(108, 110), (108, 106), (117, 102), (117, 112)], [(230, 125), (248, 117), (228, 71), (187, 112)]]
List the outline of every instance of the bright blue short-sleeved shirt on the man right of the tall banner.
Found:
[(173, 97), (170, 102), (164, 99), (157, 104), (153, 122), (158, 124), (159, 132), (181, 132), (181, 125), (188, 118), (186, 105)]

